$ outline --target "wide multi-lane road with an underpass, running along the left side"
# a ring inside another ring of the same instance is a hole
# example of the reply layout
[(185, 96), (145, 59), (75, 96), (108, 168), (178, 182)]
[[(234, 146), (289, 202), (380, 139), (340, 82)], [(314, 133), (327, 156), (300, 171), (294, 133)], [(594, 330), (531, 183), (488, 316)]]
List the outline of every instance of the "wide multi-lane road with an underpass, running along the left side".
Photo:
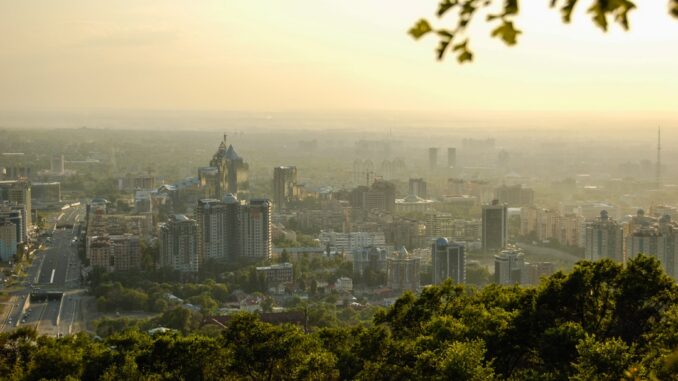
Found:
[[(40, 334), (56, 336), (73, 332), (74, 326), (79, 327), (80, 260), (73, 243), (75, 229), (56, 228), (59, 220), (77, 223), (81, 218), (82, 208), (71, 209), (50, 221), (50, 226), (54, 226), (51, 242), (46, 243), (43, 250), (36, 251), (31, 266), (26, 269), (23, 288), (14, 291), (6, 302), (9, 308), (5, 308), (0, 316), (0, 332), (11, 331), (17, 326), (33, 326)], [(33, 289), (64, 292), (63, 305), (59, 298), (25, 303)], [(66, 319), (62, 317), (57, 326), (60, 309)]]

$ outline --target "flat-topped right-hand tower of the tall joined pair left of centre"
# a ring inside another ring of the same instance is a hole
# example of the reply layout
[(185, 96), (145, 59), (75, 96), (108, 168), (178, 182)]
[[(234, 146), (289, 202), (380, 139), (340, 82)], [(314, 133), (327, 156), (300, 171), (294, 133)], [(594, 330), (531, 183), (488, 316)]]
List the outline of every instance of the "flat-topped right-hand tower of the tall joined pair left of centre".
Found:
[(271, 201), (252, 199), (240, 206), (240, 257), (248, 260), (271, 258)]

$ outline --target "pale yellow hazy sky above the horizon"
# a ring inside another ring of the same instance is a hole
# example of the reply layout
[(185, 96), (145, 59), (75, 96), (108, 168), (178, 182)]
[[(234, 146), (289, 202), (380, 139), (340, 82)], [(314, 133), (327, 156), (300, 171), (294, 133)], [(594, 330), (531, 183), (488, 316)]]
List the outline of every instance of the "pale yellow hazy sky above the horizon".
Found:
[(476, 60), (407, 29), (436, 0), (0, 0), (0, 110), (678, 112), (678, 20), (638, 1), (632, 30), (564, 25), (522, 1), (516, 47)]

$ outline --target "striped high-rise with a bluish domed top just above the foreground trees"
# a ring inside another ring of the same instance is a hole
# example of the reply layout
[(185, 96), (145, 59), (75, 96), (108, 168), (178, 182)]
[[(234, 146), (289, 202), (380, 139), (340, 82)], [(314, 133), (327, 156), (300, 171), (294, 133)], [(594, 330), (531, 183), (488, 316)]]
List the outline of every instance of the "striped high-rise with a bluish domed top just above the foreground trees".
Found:
[(464, 245), (438, 238), (431, 247), (433, 283), (451, 278), (455, 283), (466, 283), (466, 254)]

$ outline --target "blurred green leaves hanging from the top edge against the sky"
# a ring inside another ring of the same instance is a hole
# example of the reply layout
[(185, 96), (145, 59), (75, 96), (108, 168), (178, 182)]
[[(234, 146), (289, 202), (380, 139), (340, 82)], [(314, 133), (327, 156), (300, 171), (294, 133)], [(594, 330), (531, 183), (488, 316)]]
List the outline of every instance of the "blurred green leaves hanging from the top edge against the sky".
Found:
[[(442, 60), (448, 53), (455, 54), (460, 63), (473, 60), (473, 53), (469, 47), (469, 38), (466, 30), (475, 15), (481, 10), (499, 9), (496, 13), (487, 14), (487, 22), (494, 23), (492, 37), (501, 39), (506, 45), (512, 46), (518, 42), (522, 33), (515, 25), (514, 19), (520, 11), (518, 0), (440, 0), (436, 16), (456, 13), (456, 20), (452, 28), (435, 28), (427, 19), (420, 19), (409, 30), (409, 34), (419, 39), (428, 34), (438, 36), (436, 49), (438, 60)], [(579, 0), (550, 0), (551, 7), (559, 8), (563, 22), (569, 23), (575, 6)], [(630, 0), (591, 0), (588, 13), (594, 24), (603, 31), (607, 31), (610, 18), (623, 29), (629, 29), (629, 12), (635, 9)], [(669, 0), (669, 12), (678, 18), (678, 0)]]

